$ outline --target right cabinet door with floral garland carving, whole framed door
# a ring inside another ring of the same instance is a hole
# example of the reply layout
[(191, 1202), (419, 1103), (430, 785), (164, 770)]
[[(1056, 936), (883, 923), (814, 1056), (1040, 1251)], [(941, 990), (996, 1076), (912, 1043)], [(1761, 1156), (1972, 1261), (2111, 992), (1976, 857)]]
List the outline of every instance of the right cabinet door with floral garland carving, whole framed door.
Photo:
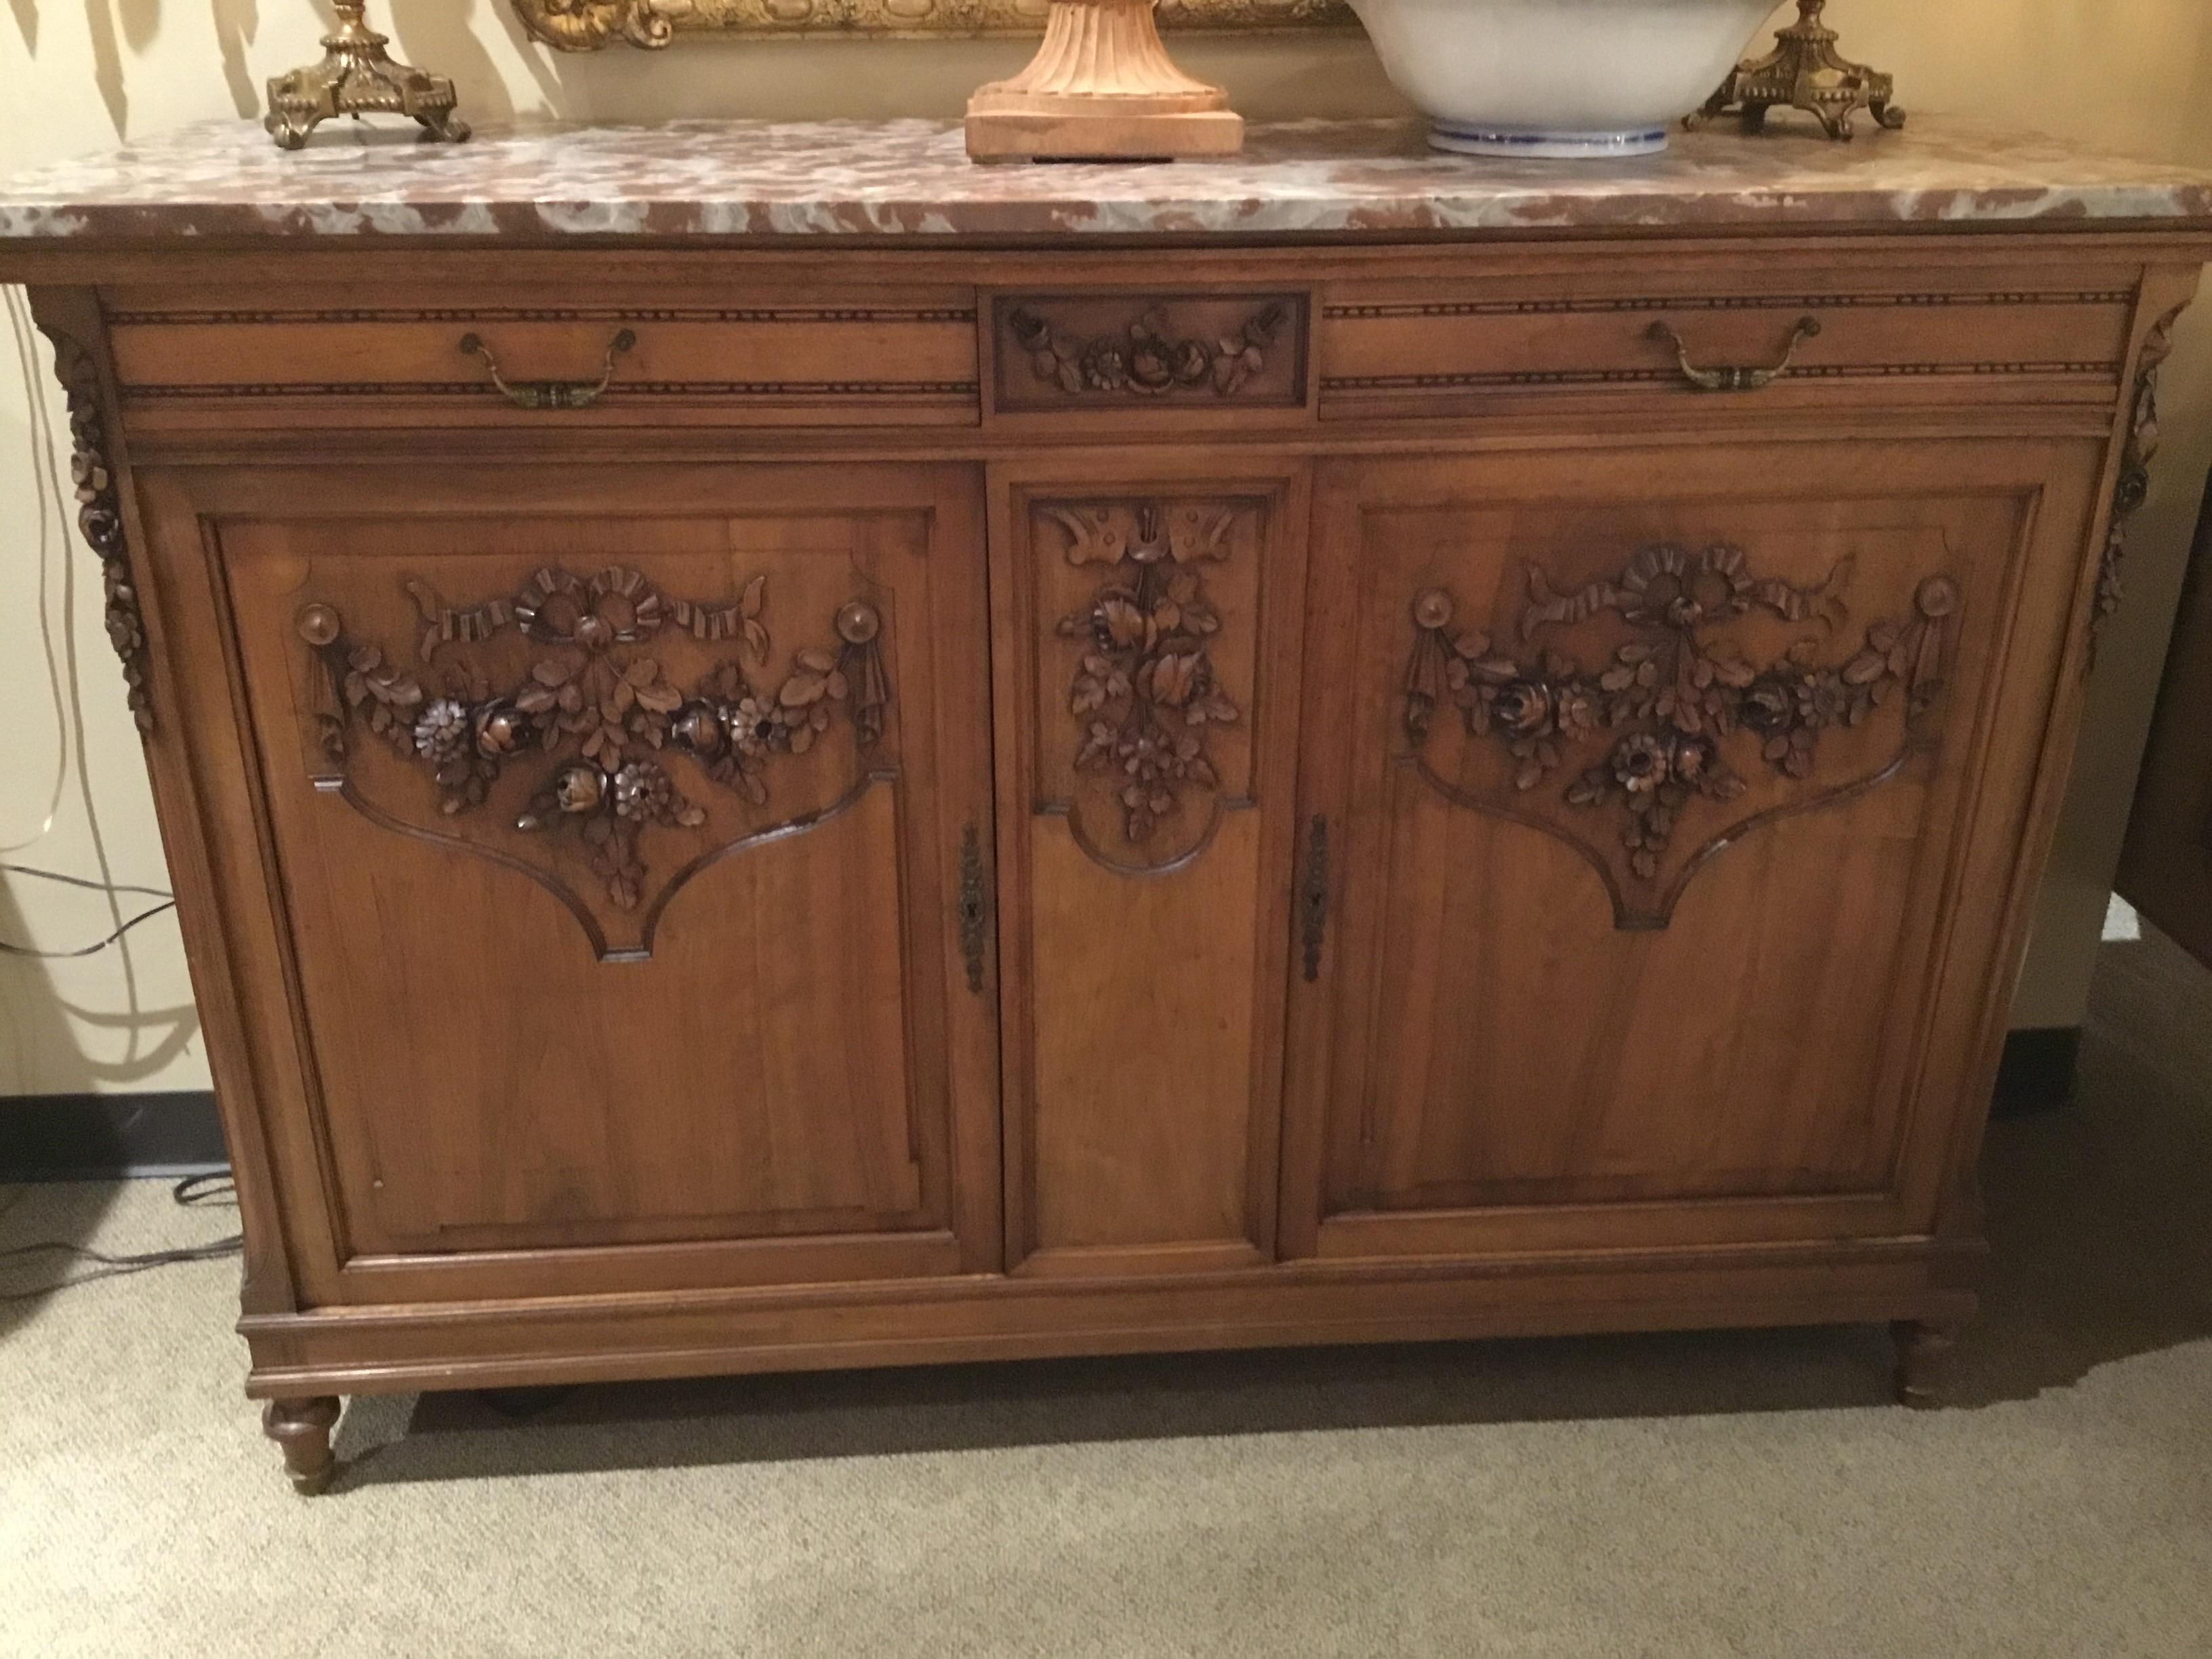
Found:
[(2073, 737), (2101, 467), (1325, 469), (1283, 1252), (1929, 1232)]

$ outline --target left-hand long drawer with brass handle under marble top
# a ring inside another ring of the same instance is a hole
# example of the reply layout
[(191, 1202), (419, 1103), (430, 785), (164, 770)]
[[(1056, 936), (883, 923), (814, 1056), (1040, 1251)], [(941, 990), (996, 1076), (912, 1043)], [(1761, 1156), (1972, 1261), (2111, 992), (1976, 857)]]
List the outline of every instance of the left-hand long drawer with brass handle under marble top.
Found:
[[(144, 299), (144, 303), (142, 303)], [(518, 294), (361, 305), (301, 290), (108, 292), (124, 400), (157, 425), (973, 425), (971, 290), (759, 294), (728, 303)], [(504, 383), (504, 385), (502, 385)]]

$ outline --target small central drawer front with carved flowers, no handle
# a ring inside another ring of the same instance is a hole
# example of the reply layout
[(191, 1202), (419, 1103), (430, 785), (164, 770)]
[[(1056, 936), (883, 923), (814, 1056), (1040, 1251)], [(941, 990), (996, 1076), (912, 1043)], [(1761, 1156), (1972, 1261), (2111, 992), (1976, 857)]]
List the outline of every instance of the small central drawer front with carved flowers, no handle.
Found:
[(991, 296), (991, 411), (1053, 427), (1310, 420), (1305, 292)]

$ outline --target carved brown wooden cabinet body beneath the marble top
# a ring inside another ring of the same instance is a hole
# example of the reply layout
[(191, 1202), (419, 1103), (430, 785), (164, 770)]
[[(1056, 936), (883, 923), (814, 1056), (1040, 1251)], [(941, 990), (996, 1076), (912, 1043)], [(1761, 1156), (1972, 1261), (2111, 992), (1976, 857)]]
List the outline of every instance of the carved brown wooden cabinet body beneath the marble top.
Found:
[(1150, 1347), (1898, 1321), (1924, 1398), (2201, 257), (58, 257), (294, 1475)]

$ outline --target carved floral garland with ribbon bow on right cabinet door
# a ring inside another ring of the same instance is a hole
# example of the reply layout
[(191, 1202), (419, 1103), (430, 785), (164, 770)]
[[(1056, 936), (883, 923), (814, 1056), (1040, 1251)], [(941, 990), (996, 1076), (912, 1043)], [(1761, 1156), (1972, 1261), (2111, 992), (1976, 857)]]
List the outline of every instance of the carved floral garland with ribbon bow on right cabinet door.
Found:
[[(1929, 575), (1854, 624), (1856, 560), (1807, 586), (1741, 546), (1655, 544), (1559, 591), (1542, 564), (1502, 624), (1411, 602), (1405, 737), (1447, 796), (1575, 845), (1621, 927), (1666, 927), (1697, 867), (1776, 816), (1874, 787), (1933, 741), (1960, 586)], [(1750, 641), (1752, 622), (1778, 648)], [(1458, 763), (1438, 768), (1449, 714)], [(1754, 781), (1763, 779), (1754, 787)]]

